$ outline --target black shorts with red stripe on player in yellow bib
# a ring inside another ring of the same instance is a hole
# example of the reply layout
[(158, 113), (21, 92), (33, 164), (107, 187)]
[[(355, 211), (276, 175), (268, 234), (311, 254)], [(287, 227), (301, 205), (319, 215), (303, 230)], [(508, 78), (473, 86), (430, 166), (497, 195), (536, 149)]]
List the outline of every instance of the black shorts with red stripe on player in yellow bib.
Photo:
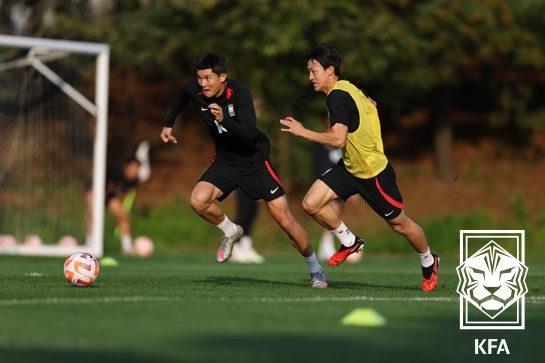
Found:
[(403, 210), (403, 198), (396, 184), (396, 174), (390, 163), (377, 176), (361, 179), (352, 174), (342, 160), (319, 177), (339, 198), (346, 201), (359, 194), (369, 206), (386, 220), (397, 217)]

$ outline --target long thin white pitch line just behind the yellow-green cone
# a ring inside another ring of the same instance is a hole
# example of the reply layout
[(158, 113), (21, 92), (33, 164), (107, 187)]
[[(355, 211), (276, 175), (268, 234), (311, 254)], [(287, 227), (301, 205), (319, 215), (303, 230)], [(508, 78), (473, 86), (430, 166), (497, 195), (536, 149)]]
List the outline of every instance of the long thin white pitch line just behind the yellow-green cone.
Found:
[[(182, 296), (111, 296), (111, 297), (96, 297), (96, 298), (43, 298), (43, 299), (10, 299), (0, 300), (0, 306), (30, 306), (30, 305), (60, 305), (60, 304), (111, 304), (111, 303), (140, 303), (140, 302), (175, 302), (182, 300), (195, 300), (191, 297)], [(262, 303), (321, 303), (321, 302), (353, 302), (353, 301), (370, 301), (370, 302), (446, 302), (458, 303), (458, 297), (450, 296), (428, 296), (428, 297), (380, 297), (380, 296), (332, 296), (332, 297), (256, 297), (249, 299), (202, 299), (209, 301), (224, 301), (224, 302), (262, 302)], [(526, 297), (526, 302), (529, 304), (545, 303), (545, 296), (529, 296)]]

